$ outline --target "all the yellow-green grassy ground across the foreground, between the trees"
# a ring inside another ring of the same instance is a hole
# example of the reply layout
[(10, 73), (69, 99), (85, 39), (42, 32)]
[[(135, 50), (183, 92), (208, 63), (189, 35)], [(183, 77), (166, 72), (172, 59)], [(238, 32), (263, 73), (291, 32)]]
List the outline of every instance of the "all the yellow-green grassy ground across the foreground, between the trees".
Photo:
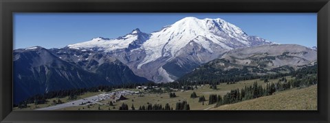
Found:
[[(288, 80), (292, 79), (291, 77), (286, 77)], [(176, 98), (169, 98), (169, 95), (167, 93), (164, 94), (144, 94), (143, 97), (138, 97), (137, 95), (129, 95), (126, 96), (126, 98), (129, 98), (128, 100), (121, 100), (120, 102), (115, 102), (114, 106), (109, 106), (109, 105), (92, 105), (89, 108), (87, 108), (87, 106), (78, 106), (78, 107), (67, 107), (64, 109), (58, 109), (58, 110), (98, 110), (98, 107), (100, 107), (100, 110), (118, 110), (120, 105), (122, 104), (122, 102), (126, 103), (127, 105), (129, 105), (129, 109), (131, 109), (131, 105), (133, 104), (135, 109), (138, 109), (138, 107), (140, 107), (140, 105), (146, 105), (147, 102), (150, 102), (151, 104), (162, 104), (163, 107), (166, 103), (170, 104), (170, 107), (173, 107), (173, 109), (175, 109), (175, 104), (176, 102), (182, 101), (182, 100), (187, 100), (188, 104), (190, 105), (190, 109), (191, 110), (203, 110), (203, 109), (209, 109), (212, 110), (214, 109), (214, 105), (208, 105), (208, 96), (210, 94), (220, 94), (221, 96), (223, 96), (224, 94), (226, 94), (227, 92), (230, 92), (230, 90), (233, 89), (241, 89), (243, 87), (245, 87), (245, 85), (252, 85), (254, 83), (254, 81), (257, 81), (258, 84), (263, 85), (265, 87), (265, 83), (263, 81), (260, 81), (259, 79), (254, 79), (254, 80), (248, 80), (248, 81), (240, 81), (239, 83), (236, 84), (231, 84), (231, 85), (227, 85), (226, 83), (221, 83), (220, 85), (217, 85), (217, 90), (212, 90), (210, 89), (209, 85), (205, 85), (203, 87), (199, 87), (197, 90), (188, 90), (185, 92), (175, 92), (175, 94), (177, 95)], [(278, 79), (271, 79), (270, 82), (276, 83), (278, 81)], [(312, 92), (310, 88), (312, 89)], [(309, 89), (309, 90), (307, 90)], [(134, 89), (133, 89), (134, 90)], [(296, 92), (298, 91), (298, 92)], [(313, 92), (314, 91), (314, 92)], [(190, 94), (192, 94), (192, 92), (196, 92), (197, 96), (205, 96), (206, 98), (206, 102), (204, 102), (204, 105), (202, 105), (201, 102), (198, 102), (198, 97), (197, 98), (190, 98)], [(286, 102), (289, 102), (292, 105), (283, 105), (285, 107), (287, 107), (287, 109), (291, 108), (291, 109), (306, 109), (306, 107), (311, 107), (309, 109), (316, 109), (316, 101), (317, 101), (317, 97), (316, 97), (316, 86), (312, 86), (309, 88), (304, 88), (304, 89), (293, 89), (293, 90), (288, 90), (285, 92), (278, 92), (277, 94), (273, 96), (267, 96), (267, 97), (261, 97), (261, 98), (257, 98), (255, 100), (247, 100), (244, 102), (239, 102), (236, 104), (232, 104), (232, 105), (239, 105), (241, 103), (246, 103), (246, 102), (250, 102), (252, 104), (250, 104), (251, 106), (245, 106), (244, 108), (241, 109), (248, 109), (248, 107), (250, 107), (250, 110), (252, 109), (256, 109), (256, 108), (261, 108), (261, 109), (276, 109), (274, 108), (274, 104), (278, 105), (278, 103), (276, 102), (281, 102), (282, 104), (285, 104)], [(89, 96), (94, 96), (96, 94), (100, 94), (101, 92), (98, 93), (87, 93), (87, 94), (83, 94), (82, 96), (80, 96), (80, 98), (85, 98), (85, 97), (89, 97)], [(289, 94), (287, 94), (289, 93)], [(294, 98), (294, 97), (298, 97), (296, 95), (303, 93), (305, 95), (305, 97), (303, 98)], [(283, 95), (284, 94), (284, 95)], [(283, 98), (283, 96), (292, 96), (291, 98)], [(296, 103), (303, 103), (305, 101), (305, 98), (309, 98), (309, 102), (305, 102), (307, 104), (307, 106), (305, 107), (305, 105), (297, 105)], [(265, 98), (265, 99), (263, 99)], [(55, 100), (57, 100), (57, 98), (54, 98)], [(49, 99), (50, 102), (54, 99)], [(298, 100), (301, 99), (301, 100)], [(63, 100), (64, 102), (70, 101), (67, 100), (66, 98), (61, 98), (61, 100)], [(134, 101), (132, 101), (134, 100)], [(260, 102), (258, 102), (259, 100), (262, 100), (261, 102), (267, 103), (267, 104), (262, 104)], [(251, 101), (256, 101), (256, 102), (251, 102)], [(47, 107), (48, 105), (50, 105), (50, 102), (48, 102), (46, 105), (37, 105), (38, 108), (41, 107)], [(103, 100), (102, 103), (107, 103), (109, 102), (109, 100)], [(295, 103), (294, 103), (295, 102)], [(260, 104), (259, 104), (260, 103)], [(259, 104), (259, 107), (255, 106)], [(311, 105), (309, 105), (311, 104)], [(31, 110), (31, 109), (35, 109), (33, 104), (29, 104), (31, 107), (28, 107), (26, 109), (18, 109), (18, 110)], [(231, 107), (235, 107), (232, 105), (224, 105), (221, 107), (218, 107), (217, 109), (230, 109)], [(245, 104), (243, 104), (245, 105)], [(262, 105), (265, 105), (264, 107), (261, 107)], [(267, 107), (267, 105), (273, 105), (272, 107)], [(299, 107), (298, 107), (299, 106)], [(113, 109), (113, 107), (115, 107), (115, 109)], [(242, 106), (243, 107), (243, 106)], [(17, 108), (16, 108), (17, 109)], [(240, 109), (240, 108), (237, 108)], [(284, 109), (284, 108), (281, 108)], [(307, 108), (308, 109), (308, 108)]]

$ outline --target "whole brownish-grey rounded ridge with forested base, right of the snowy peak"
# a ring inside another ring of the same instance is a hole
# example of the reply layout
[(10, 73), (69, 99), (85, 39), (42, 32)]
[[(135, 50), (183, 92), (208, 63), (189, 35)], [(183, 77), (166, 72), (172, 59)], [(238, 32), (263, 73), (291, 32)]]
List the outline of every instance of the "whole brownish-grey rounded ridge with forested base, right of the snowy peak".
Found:
[(256, 46), (229, 51), (178, 79), (179, 82), (231, 83), (276, 79), (308, 69), (317, 72), (316, 51), (298, 45)]

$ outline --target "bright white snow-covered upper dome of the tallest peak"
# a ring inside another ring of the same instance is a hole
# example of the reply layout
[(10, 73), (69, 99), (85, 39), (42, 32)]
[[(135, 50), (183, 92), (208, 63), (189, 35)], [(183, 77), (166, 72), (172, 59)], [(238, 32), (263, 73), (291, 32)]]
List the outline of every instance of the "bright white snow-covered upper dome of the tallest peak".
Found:
[(211, 48), (214, 44), (219, 46), (218, 49), (228, 50), (254, 46), (256, 43), (251, 41), (260, 42), (259, 45), (272, 44), (261, 38), (251, 38), (239, 27), (220, 18), (201, 20), (195, 17), (186, 17), (161, 31), (151, 33), (151, 38), (142, 44), (142, 49), (146, 51), (146, 57), (137, 68), (141, 68), (144, 64), (160, 57), (175, 58), (179, 50), (190, 41), (201, 45), (210, 53), (214, 52), (214, 49)]

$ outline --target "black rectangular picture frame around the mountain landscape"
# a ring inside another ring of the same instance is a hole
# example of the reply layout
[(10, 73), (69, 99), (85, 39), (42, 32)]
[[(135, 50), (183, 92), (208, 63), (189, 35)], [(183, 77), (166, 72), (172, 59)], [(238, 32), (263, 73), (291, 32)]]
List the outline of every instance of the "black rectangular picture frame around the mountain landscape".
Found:
[[(318, 111), (12, 111), (13, 12), (317, 12)], [(330, 122), (329, 0), (0, 0), (0, 122)]]

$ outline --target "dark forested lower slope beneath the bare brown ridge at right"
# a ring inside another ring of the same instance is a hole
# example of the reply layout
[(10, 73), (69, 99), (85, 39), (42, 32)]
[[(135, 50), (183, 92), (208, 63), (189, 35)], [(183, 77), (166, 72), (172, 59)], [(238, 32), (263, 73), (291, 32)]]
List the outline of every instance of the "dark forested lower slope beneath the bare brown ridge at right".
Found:
[[(205, 65), (203, 67), (207, 67)], [(314, 64), (313, 66), (305, 66), (298, 70), (294, 70), (294, 68), (290, 66), (282, 66), (280, 68), (272, 69), (271, 72), (275, 72), (274, 74), (256, 74), (251, 73), (251, 70), (260, 70), (266, 72), (263, 68), (256, 68), (254, 66), (243, 66), (242, 69), (239, 68), (232, 68), (230, 70), (221, 70), (221, 69), (214, 69), (210, 68), (208, 70), (195, 70), (190, 74), (186, 74), (184, 77), (181, 77), (177, 80), (179, 83), (205, 83), (205, 84), (212, 84), (212, 83), (235, 83), (238, 81), (245, 81), (251, 79), (278, 79), (280, 77), (286, 76), (302, 76), (305, 74), (317, 74), (318, 72), (318, 64)], [(249, 68), (251, 68), (249, 70)], [(283, 72), (283, 71), (286, 72)], [(192, 81), (193, 80), (193, 81)]]

